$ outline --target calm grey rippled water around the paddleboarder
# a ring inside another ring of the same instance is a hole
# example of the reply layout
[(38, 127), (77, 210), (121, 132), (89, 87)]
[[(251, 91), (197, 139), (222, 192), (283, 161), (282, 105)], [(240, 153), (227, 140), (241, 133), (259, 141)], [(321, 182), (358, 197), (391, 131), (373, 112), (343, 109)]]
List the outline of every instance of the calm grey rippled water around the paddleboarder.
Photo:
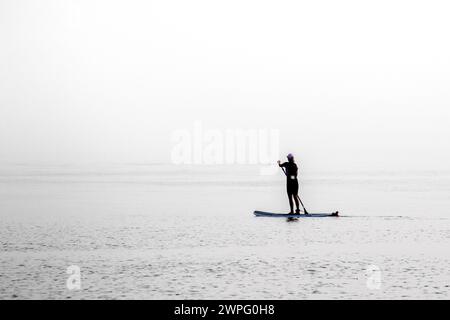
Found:
[[(1, 299), (450, 298), (450, 173), (3, 166)], [(81, 290), (69, 290), (69, 266)]]

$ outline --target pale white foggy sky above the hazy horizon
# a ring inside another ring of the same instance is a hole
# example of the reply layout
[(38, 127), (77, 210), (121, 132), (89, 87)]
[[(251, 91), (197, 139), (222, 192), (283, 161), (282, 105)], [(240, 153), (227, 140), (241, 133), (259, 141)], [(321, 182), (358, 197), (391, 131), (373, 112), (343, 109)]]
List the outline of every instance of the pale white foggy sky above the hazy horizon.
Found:
[(316, 169), (449, 169), (447, 1), (0, 1), (0, 162), (168, 162), (273, 128)]

